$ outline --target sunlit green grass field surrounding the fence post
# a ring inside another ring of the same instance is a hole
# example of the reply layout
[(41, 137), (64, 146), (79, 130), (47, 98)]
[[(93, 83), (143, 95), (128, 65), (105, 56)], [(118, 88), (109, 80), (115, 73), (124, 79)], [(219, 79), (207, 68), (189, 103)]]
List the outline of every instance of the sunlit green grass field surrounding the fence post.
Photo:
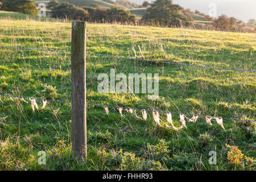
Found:
[[(70, 51), (70, 40), (71, 23), (0, 19), (0, 46)], [(93, 53), (175, 63), (256, 66), (256, 34), (88, 23), (86, 47)], [(70, 53), (0, 49), (0, 93), (71, 101), (70, 60)], [(88, 103), (255, 120), (255, 73), (97, 56), (86, 62)], [(146, 94), (97, 93), (96, 76), (109, 75), (112, 68), (126, 75), (159, 73), (159, 100), (148, 100)], [(255, 169), (255, 162), (242, 163), (239, 151), (226, 149), (226, 144), (238, 146), (255, 158), (254, 123), (224, 120), (224, 131), (215, 121), (208, 126), (200, 118), (175, 131), (157, 126), (151, 113), (143, 121), (125, 112), (121, 117), (113, 109), (109, 114), (100, 107), (87, 110), (88, 161), (77, 163), (71, 156), (71, 105), (49, 102), (33, 113), (29, 103), (1, 97), (0, 169)], [(167, 124), (164, 114), (160, 119)], [(179, 115), (173, 120), (180, 125)], [(211, 150), (217, 151), (217, 165), (208, 163)], [(39, 151), (47, 152), (46, 165), (38, 164)]]

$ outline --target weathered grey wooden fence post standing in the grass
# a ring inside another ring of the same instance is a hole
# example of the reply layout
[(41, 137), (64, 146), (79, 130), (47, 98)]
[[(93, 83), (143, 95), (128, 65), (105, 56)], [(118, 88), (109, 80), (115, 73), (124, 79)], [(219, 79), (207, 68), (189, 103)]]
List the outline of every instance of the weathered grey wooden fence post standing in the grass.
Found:
[(72, 155), (87, 157), (86, 146), (86, 23), (72, 22)]

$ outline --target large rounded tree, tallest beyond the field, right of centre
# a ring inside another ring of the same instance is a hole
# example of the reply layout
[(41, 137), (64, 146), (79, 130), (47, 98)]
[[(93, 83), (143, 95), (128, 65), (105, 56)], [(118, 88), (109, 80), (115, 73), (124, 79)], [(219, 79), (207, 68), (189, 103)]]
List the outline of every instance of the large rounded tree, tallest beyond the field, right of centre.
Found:
[(189, 26), (193, 19), (184, 15), (182, 7), (174, 5), (172, 0), (156, 0), (147, 8), (146, 14), (143, 15), (143, 22), (160, 24), (161, 26)]

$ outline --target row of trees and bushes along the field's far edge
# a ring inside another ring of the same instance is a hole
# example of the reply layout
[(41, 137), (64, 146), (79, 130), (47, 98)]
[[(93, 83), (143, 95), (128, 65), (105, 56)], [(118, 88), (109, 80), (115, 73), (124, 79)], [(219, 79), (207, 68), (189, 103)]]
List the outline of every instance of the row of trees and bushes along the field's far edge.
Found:
[[(118, 2), (126, 3), (125, 0)], [(135, 5), (134, 5), (135, 6)], [(145, 1), (142, 4), (146, 7), (146, 13), (141, 19), (131, 15), (130, 11), (123, 10), (119, 7), (112, 6), (108, 9), (92, 4), (85, 7), (76, 7), (68, 2), (59, 2), (52, 0), (48, 3), (47, 8), (51, 10), (53, 18), (85, 20), (88, 22), (98, 23), (129, 23), (129, 24), (150, 24), (153, 26), (164, 27), (188, 27), (193, 26), (193, 18), (189, 16), (192, 12), (189, 9), (183, 9), (175, 5), (172, 0), (156, 0), (152, 3)], [(34, 0), (0, 0), (0, 8), (5, 11), (16, 11), (24, 14), (38, 14), (38, 8)], [(255, 19), (250, 19), (247, 24), (236, 18), (228, 18), (221, 15), (218, 18), (212, 18), (209, 15), (195, 11), (195, 14), (204, 16), (205, 19), (213, 22), (215, 30), (220, 31), (238, 31), (240, 27), (255, 27)]]

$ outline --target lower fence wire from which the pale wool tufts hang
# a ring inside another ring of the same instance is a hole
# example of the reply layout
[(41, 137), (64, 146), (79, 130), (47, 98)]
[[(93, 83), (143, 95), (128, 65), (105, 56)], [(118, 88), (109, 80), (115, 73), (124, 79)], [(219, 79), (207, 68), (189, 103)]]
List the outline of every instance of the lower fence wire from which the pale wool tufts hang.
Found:
[[(24, 96), (13, 96), (10, 94), (0, 94), (0, 96), (5, 96), (5, 97), (14, 97), (14, 98), (27, 98), (27, 99), (35, 99), (35, 100), (40, 100), (40, 101), (49, 101), (49, 102), (60, 102), (60, 103), (64, 103), (64, 104), (72, 104), (72, 102), (69, 101), (61, 101), (61, 100), (48, 100), (45, 98), (35, 98), (35, 97), (24, 97)], [(89, 106), (98, 106), (98, 107), (109, 107), (109, 108), (117, 108), (117, 109), (133, 109), (133, 110), (145, 110), (148, 112), (153, 112), (153, 111), (158, 111), (158, 113), (167, 113), (167, 114), (184, 114), (184, 113), (174, 113), (174, 112), (169, 112), (169, 111), (159, 111), (159, 110), (148, 110), (148, 109), (137, 109), (137, 108), (132, 108), (132, 107), (119, 107), (119, 106), (109, 106), (109, 105), (98, 105), (98, 104), (86, 104)], [(198, 117), (209, 117), (209, 115), (198, 115), (198, 114), (184, 114), (184, 115), (196, 115)], [(236, 119), (236, 118), (222, 118), (222, 119), (226, 119), (226, 120), (232, 120), (232, 121), (249, 121), (249, 122), (256, 122), (254, 120), (250, 120), (250, 119)]]

